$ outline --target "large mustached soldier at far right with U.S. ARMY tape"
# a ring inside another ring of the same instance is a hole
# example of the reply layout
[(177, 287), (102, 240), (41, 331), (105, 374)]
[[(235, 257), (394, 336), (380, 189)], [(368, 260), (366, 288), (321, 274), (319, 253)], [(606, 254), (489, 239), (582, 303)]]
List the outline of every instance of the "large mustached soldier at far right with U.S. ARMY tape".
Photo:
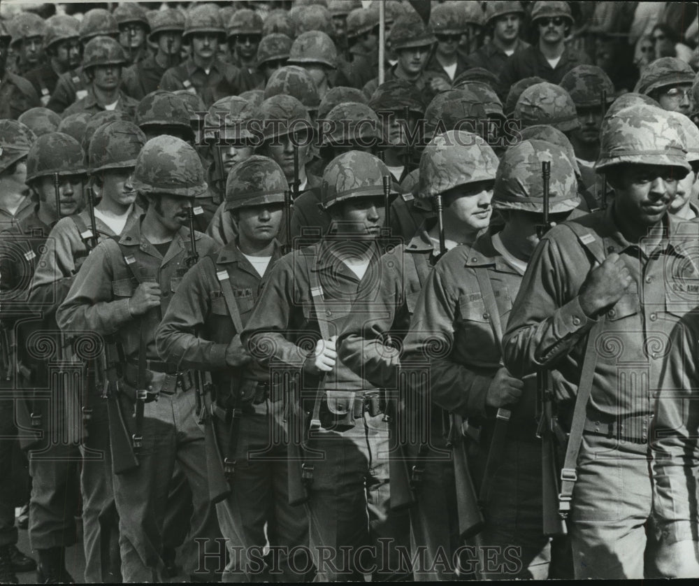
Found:
[(614, 200), (549, 231), (507, 322), (513, 376), (556, 369), (559, 422), (571, 430), (559, 508), (570, 510), (575, 578), (672, 576), (678, 561), (645, 525), (654, 516), (651, 390), (664, 355), (649, 343), (667, 340), (699, 302), (684, 284), (696, 275), (696, 224), (667, 213), (690, 169), (684, 148), (659, 108), (630, 106), (607, 119), (596, 170), (607, 174)]

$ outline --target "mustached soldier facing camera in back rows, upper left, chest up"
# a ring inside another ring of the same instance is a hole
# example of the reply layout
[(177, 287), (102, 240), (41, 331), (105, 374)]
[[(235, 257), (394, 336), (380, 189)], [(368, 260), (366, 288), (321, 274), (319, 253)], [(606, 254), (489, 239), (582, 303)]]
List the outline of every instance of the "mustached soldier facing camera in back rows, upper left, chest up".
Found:
[(217, 57), (219, 43), (226, 41), (217, 6), (201, 4), (189, 10), (182, 38), (192, 44), (192, 56), (163, 74), (160, 89), (199, 94), (207, 108), (222, 97), (237, 95), (238, 68)]

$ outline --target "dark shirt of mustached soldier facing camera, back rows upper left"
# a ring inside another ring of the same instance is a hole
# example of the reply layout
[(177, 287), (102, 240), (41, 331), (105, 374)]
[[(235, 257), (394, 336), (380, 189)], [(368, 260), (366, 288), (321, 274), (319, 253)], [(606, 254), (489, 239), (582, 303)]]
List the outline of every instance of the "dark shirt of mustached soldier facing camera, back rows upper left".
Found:
[(208, 75), (206, 71), (194, 64), (190, 57), (184, 63), (171, 67), (160, 80), (160, 89), (168, 92), (187, 90), (199, 94), (207, 108), (226, 96), (240, 94), (236, 85), (238, 68), (235, 65), (216, 59), (211, 64)]

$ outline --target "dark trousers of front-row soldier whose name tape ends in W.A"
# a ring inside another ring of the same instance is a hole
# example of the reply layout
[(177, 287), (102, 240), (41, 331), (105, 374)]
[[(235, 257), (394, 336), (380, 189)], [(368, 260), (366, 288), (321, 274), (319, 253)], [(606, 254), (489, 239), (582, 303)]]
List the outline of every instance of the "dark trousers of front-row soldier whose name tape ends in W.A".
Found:
[[(250, 406), (254, 413), (240, 418), (231, 494), (216, 506), (230, 558), (223, 582), (308, 580), (304, 559), (308, 557), (308, 517), (303, 506), (289, 505), (283, 405), (283, 401), (266, 399)], [(231, 429), (219, 420), (215, 426), (219, 446), (226, 452)], [(267, 542), (270, 552), (262, 564)]]

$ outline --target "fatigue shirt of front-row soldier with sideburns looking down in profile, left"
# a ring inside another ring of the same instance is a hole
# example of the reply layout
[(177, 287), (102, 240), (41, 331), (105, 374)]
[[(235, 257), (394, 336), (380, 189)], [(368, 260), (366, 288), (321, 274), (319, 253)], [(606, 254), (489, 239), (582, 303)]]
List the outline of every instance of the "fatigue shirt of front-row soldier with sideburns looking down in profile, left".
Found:
[[(168, 303), (187, 273), (189, 229), (181, 227), (175, 234), (170, 248), (163, 257), (145, 236), (141, 235), (140, 222), (134, 222), (119, 238), (103, 241), (85, 259), (80, 272), (75, 276), (66, 299), (59, 307), (56, 317), (58, 326), (64, 330), (93, 330), (102, 336), (112, 336), (122, 345), (124, 357), (138, 360), (141, 331), (145, 336), (146, 358), (160, 360), (155, 348), (155, 331)], [(206, 256), (215, 248), (215, 243), (200, 232), (195, 233), (196, 250)], [(160, 306), (145, 315), (131, 316), (129, 299), (134, 295), (138, 283), (124, 260), (133, 255), (136, 262), (131, 266), (139, 271), (145, 282), (158, 283), (162, 292)]]

